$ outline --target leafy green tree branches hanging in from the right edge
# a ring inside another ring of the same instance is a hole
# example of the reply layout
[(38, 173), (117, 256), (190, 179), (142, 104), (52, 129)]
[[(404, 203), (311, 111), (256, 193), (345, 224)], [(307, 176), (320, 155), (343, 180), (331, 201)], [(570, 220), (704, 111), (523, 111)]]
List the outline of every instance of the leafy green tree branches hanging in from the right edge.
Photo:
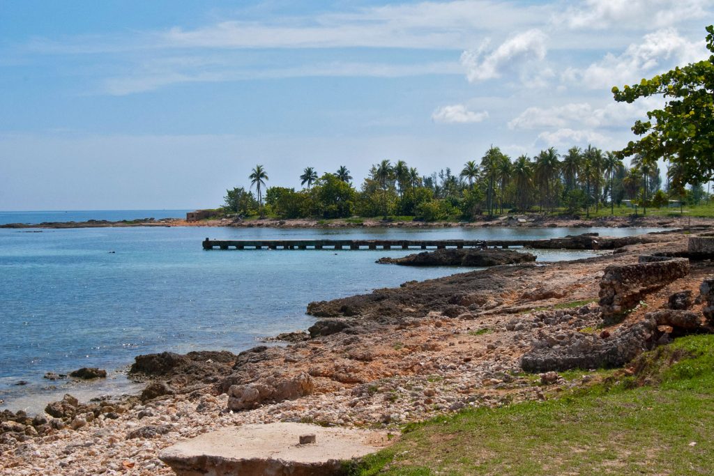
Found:
[(675, 188), (708, 182), (714, 174), (714, 26), (707, 26), (706, 31), (707, 49), (712, 53), (708, 59), (612, 90), (618, 102), (665, 98), (665, 106), (649, 111), (647, 121), (635, 121), (632, 131), (640, 138), (618, 154), (640, 155), (648, 161), (671, 158), (682, 168), (673, 178)]

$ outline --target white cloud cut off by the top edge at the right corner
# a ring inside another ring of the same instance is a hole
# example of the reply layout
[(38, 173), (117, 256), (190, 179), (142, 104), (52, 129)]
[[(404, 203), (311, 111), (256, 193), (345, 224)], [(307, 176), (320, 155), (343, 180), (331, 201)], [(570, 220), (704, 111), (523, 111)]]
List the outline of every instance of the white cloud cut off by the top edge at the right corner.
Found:
[(710, 0), (585, 0), (554, 17), (570, 29), (663, 28), (708, 16)]

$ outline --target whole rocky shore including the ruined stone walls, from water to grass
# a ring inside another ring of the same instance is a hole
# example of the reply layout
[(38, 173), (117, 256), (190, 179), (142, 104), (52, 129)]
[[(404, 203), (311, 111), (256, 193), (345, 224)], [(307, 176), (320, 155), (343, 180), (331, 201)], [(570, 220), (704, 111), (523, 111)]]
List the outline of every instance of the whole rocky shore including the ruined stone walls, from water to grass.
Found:
[[(0, 474), (169, 475), (162, 449), (221, 427), (282, 421), (398, 431), (466, 406), (549, 398), (566, 385), (558, 375), (566, 368), (584, 368), (567, 385), (588, 385), (589, 368), (627, 365), (646, 348), (711, 330), (706, 255), (686, 269), (658, 258), (665, 264), (656, 280), (641, 263), (643, 255), (687, 255), (690, 236), (664, 233), (585, 260), (496, 266), (310, 303), (321, 319), (279, 336), (283, 345), (139, 356), (130, 375), (146, 381), (141, 395), (68, 395), (46, 415), (0, 414)], [(629, 284), (604, 282), (606, 268)], [(603, 313), (610, 289), (618, 302), (638, 295), (637, 303)]]

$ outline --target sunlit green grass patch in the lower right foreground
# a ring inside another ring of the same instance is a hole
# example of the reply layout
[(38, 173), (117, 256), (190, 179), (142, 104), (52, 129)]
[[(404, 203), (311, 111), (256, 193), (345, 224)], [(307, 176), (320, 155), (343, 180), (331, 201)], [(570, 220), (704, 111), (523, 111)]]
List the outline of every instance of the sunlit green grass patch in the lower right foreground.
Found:
[(590, 373), (598, 383), (544, 402), (408, 425), (401, 440), (351, 465), (348, 474), (712, 474), (714, 335), (680, 338), (633, 367), (631, 376)]

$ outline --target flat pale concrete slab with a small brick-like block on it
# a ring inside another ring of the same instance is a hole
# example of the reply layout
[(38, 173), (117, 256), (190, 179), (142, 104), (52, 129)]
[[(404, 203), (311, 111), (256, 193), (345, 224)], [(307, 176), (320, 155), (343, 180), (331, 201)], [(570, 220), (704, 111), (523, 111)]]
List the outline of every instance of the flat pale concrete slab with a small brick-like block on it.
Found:
[[(299, 444), (305, 435), (315, 435), (316, 442)], [(341, 461), (386, 445), (386, 432), (271, 423), (206, 433), (166, 448), (159, 457), (178, 476), (338, 475)]]

